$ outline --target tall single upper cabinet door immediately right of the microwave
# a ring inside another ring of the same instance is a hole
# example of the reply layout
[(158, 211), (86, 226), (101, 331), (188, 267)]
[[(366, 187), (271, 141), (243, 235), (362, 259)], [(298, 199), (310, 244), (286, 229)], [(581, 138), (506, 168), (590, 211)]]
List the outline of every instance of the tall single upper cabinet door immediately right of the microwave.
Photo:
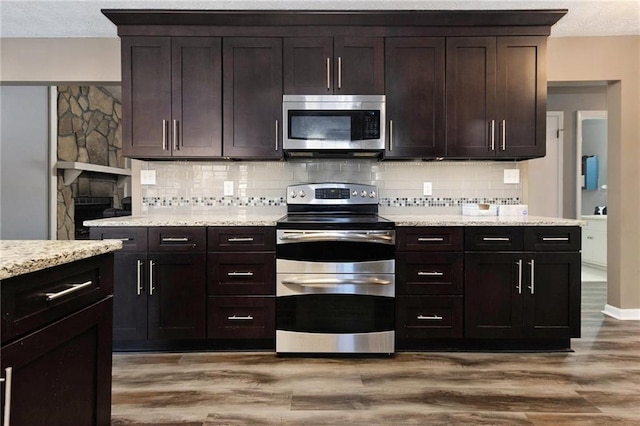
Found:
[(441, 37), (386, 40), (389, 143), (385, 158), (444, 156), (444, 46)]

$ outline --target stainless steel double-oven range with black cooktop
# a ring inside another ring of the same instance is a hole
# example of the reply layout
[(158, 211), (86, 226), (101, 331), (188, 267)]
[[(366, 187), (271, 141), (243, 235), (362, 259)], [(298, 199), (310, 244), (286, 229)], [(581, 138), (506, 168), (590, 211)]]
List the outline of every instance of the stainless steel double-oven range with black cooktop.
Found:
[(276, 352), (395, 349), (395, 230), (375, 186), (287, 189), (277, 224)]

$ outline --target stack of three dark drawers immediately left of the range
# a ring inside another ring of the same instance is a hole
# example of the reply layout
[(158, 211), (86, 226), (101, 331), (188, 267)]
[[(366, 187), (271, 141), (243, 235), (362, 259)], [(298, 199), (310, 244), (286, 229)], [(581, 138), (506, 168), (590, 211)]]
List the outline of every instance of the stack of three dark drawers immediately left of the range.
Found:
[(274, 348), (275, 228), (213, 227), (207, 238), (207, 337)]

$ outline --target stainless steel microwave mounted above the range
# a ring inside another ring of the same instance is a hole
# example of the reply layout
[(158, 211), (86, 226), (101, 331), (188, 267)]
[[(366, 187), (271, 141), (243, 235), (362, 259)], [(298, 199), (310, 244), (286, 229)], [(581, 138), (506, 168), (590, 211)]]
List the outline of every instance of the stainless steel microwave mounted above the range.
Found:
[(284, 95), (289, 156), (377, 156), (385, 148), (384, 95)]

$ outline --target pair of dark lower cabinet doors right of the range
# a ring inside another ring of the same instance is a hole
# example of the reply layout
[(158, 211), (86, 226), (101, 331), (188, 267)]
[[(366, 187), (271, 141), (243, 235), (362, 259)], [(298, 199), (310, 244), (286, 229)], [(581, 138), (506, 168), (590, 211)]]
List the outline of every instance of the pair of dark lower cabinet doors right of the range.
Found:
[(465, 336), (580, 336), (580, 253), (467, 253)]

